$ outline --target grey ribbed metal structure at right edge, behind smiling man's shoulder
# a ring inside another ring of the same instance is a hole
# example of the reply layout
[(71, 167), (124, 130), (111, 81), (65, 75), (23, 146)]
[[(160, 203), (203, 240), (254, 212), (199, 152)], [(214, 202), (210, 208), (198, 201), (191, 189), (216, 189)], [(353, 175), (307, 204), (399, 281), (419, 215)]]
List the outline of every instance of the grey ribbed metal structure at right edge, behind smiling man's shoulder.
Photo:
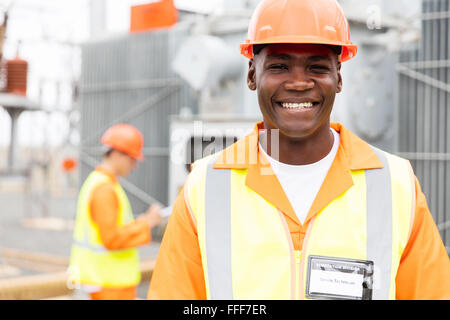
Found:
[(398, 147), (409, 159), (443, 242), (450, 248), (450, 0), (423, 0), (422, 35), (404, 50), (399, 74)]

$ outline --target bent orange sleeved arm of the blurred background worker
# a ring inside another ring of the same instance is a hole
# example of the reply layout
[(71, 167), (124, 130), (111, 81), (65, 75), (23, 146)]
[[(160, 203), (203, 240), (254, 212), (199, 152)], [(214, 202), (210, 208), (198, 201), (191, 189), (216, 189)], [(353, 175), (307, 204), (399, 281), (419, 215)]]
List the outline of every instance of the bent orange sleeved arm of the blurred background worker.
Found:
[(90, 208), (91, 218), (108, 250), (135, 248), (151, 241), (150, 225), (145, 220), (118, 225), (119, 200), (113, 184), (104, 183), (92, 192)]

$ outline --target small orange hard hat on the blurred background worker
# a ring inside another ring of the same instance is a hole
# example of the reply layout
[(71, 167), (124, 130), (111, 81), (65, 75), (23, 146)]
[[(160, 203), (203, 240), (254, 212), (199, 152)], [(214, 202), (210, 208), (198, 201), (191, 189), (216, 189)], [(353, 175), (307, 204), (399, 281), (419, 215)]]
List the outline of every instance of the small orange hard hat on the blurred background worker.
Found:
[(129, 124), (116, 124), (106, 130), (100, 140), (102, 144), (128, 154), (136, 160), (144, 160), (142, 148), (144, 138), (141, 132)]

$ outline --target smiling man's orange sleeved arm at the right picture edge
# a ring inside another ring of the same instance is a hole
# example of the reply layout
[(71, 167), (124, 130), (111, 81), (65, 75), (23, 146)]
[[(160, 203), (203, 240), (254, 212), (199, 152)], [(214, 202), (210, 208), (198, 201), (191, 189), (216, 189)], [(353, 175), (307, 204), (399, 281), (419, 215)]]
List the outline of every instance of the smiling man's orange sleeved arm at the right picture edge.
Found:
[(450, 260), (428, 209), (419, 181), (408, 244), (397, 272), (397, 299), (450, 299)]

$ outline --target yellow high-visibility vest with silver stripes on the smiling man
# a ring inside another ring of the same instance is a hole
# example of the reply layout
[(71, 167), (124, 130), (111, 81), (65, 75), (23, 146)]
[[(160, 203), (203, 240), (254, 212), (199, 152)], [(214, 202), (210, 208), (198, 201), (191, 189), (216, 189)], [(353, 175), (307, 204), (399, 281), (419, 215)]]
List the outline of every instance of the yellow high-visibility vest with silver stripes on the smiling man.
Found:
[(352, 170), (353, 186), (311, 219), (294, 250), (281, 213), (245, 185), (248, 169), (197, 161), (186, 199), (197, 225), (208, 299), (306, 299), (313, 256), (373, 261), (372, 299), (395, 299), (414, 217), (407, 160), (372, 147), (384, 168)]

